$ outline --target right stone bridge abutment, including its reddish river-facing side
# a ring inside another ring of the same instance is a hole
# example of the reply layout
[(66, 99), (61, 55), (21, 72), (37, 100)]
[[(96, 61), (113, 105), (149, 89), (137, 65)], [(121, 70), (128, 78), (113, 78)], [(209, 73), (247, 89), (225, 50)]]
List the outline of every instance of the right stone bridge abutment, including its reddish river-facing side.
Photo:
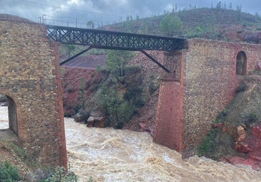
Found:
[(161, 80), (153, 137), (177, 151), (193, 151), (234, 97), (242, 77), (236, 74), (237, 55), (246, 55), (244, 74), (261, 62), (261, 45), (200, 39), (187, 43), (187, 49), (165, 58), (165, 65), (178, 66), (169, 66), (175, 73), (165, 74)]

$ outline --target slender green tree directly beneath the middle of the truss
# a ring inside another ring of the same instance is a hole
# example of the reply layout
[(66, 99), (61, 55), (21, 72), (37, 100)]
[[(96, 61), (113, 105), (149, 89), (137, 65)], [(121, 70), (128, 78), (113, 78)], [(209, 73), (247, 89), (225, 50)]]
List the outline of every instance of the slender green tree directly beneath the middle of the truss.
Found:
[(111, 50), (106, 58), (106, 70), (124, 84), (127, 63), (133, 58), (134, 53), (127, 50)]

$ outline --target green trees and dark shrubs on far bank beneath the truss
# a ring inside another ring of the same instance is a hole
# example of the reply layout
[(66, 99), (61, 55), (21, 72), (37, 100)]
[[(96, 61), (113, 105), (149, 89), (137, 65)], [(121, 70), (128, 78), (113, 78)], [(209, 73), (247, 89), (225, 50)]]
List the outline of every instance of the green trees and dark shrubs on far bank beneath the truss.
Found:
[(114, 50), (110, 51), (106, 59), (109, 77), (98, 95), (98, 103), (106, 117), (106, 127), (121, 129), (144, 105), (141, 99), (143, 89), (126, 82), (126, 76), (138, 70), (128, 65), (133, 55), (128, 51)]

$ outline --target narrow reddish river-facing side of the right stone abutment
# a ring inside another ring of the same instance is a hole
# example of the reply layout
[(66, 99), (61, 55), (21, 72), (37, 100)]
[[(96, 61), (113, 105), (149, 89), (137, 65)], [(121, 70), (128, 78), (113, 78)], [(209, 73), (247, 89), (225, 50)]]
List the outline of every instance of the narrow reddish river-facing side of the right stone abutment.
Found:
[(160, 92), (155, 119), (153, 141), (170, 149), (183, 149), (183, 52), (166, 52), (164, 73), (160, 80)]

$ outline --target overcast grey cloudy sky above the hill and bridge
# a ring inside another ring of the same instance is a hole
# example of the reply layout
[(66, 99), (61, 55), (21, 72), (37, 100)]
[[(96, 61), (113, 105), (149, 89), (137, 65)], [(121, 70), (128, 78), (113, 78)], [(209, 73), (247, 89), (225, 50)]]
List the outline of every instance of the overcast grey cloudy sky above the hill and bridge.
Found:
[[(261, 15), (260, 0), (222, 0), (227, 7), (232, 3), (232, 9), (242, 5), (242, 11)], [(44, 19), (86, 24), (93, 21), (96, 26), (116, 23), (126, 20), (126, 16), (137, 14), (140, 18), (163, 14), (171, 11), (175, 5), (178, 9), (189, 9), (190, 6), (215, 7), (218, 0), (0, 0), (0, 14), (12, 14), (31, 21)], [(55, 23), (48, 21), (48, 23)], [(47, 22), (47, 21), (46, 21)], [(65, 25), (66, 26), (66, 25)]]

